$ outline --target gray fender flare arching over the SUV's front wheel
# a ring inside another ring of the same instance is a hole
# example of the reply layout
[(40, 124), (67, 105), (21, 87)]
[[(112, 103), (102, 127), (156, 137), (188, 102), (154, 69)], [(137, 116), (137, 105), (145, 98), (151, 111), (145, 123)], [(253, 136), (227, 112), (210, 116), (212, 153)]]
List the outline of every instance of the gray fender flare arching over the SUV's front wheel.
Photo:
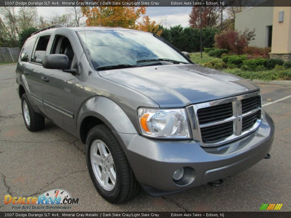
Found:
[(104, 96), (94, 96), (83, 102), (77, 115), (77, 132), (80, 136), (82, 121), (93, 116), (104, 122), (112, 131), (125, 134), (137, 134), (132, 122), (122, 108)]

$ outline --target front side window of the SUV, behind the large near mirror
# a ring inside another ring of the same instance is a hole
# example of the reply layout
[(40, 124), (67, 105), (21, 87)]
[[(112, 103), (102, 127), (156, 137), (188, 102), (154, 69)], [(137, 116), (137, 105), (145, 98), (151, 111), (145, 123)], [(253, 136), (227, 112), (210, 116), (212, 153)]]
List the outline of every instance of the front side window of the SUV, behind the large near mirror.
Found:
[(69, 58), (69, 68), (76, 69), (76, 57), (69, 39), (62, 35), (56, 35), (51, 54), (65, 54)]

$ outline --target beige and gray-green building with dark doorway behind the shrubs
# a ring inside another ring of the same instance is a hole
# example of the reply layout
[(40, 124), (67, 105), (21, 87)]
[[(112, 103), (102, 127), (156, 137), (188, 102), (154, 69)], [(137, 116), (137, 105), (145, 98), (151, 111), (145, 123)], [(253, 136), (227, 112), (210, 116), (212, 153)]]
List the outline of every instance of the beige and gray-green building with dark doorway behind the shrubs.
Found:
[[(284, 3), (282, 3), (284, 2)], [(282, 0), (280, 5), (290, 5), (291, 0)], [(291, 7), (277, 6), (269, 0), (256, 7), (238, 13), (236, 29), (256, 29), (255, 39), (249, 46), (271, 47), (270, 58), (291, 60)]]

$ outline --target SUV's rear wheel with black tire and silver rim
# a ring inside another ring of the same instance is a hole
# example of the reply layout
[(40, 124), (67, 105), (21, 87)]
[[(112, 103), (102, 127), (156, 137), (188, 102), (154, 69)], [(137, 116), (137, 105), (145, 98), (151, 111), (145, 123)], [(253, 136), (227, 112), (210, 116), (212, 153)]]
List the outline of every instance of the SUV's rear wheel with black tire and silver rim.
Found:
[(34, 132), (43, 129), (45, 118), (33, 110), (26, 93), (21, 97), (21, 109), (25, 126), (29, 131)]

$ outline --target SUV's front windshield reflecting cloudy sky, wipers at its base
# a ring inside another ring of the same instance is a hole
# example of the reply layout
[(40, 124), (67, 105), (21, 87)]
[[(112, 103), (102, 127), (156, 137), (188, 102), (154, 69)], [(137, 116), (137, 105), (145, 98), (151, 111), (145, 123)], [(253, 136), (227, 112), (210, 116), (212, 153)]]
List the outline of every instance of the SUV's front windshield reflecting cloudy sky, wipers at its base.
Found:
[[(79, 31), (96, 69), (104, 66), (149, 64), (157, 59), (189, 63), (181, 54), (153, 34), (130, 30)], [(154, 60), (152, 60), (154, 59)], [(140, 61), (146, 60), (146, 61)]]

